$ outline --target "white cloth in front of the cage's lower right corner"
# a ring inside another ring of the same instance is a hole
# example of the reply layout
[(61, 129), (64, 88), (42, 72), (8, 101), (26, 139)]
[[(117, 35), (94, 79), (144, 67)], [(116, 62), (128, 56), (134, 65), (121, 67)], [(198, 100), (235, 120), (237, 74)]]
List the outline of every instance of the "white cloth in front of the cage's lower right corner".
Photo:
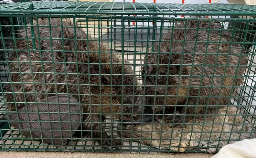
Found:
[(225, 145), (211, 158), (256, 158), (256, 139)]

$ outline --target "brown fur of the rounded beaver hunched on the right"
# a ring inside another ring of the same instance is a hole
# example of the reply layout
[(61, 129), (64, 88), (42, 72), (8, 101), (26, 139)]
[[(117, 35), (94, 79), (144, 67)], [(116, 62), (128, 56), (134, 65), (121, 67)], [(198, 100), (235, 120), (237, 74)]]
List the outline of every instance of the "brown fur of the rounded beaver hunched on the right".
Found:
[[(209, 23), (209, 22), (199, 22), (199, 29), (221, 29), (220, 23)], [(197, 21), (187, 21), (187, 26), (185, 26), (185, 22), (181, 22), (179, 24), (176, 24), (175, 28), (179, 28), (179, 30), (173, 31), (173, 38), (172, 38), (172, 32), (169, 32), (166, 35), (162, 36), (162, 41), (183, 41), (185, 30), (182, 28), (197, 28)], [(196, 30), (186, 30), (186, 41), (195, 41), (196, 40)], [(222, 35), (221, 35), (221, 42), (230, 42), (231, 39), (231, 32), (225, 31), (223, 29)], [(220, 38), (220, 31), (210, 31), (209, 33), (209, 39), (208, 39), (208, 30), (199, 30), (197, 35), (197, 41), (209, 41), (209, 42), (219, 42)], [(235, 41), (235, 39), (233, 39)], [(183, 46), (184, 46), (184, 52), (185, 53), (192, 53), (192, 54), (184, 54), (183, 58), (181, 54), (160, 54), (159, 56), (159, 62), (158, 62), (158, 54), (148, 54), (147, 55), (147, 63), (148, 64), (168, 64), (169, 63), (169, 55), (170, 57), (170, 64), (212, 64), (215, 65), (215, 60), (217, 55), (213, 53), (218, 52), (218, 45), (219, 43), (202, 43), (197, 42), (196, 48), (195, 48), (195, 42), (173, 42), (171, 45), (171, 42), (161, 42), (160, 44), (160, 52), (183, 52)], [(229, 43), (220, 43), (219, 46), (219, 53), (229, 53)], [(170, 50), (171, 48), (171, 50)], [(204, 63), (205, 54), (198, 54), (198, 53), (205, 53), (207, 50), (207, 55)], [(196, 49), (196, 50), (195, 50)], [(159, 44), (158, 42), (155, 43), (155, 52), (158, 52), (159, 50)], [(194, 54), (195, 51), (195, 54)], [(245, 51), (242, 52), (244, 54)], [(227, 58), (229, 56), (228, 65), (247, 65), (247, 56), (243, 55), (240, 58), (240, 55), (232, 55), (232, 54), (240, 54), (241, 53), (241, 44), (233, 44), (231, 45), (230, 55), (219, 55), (217, 60), (217, 65), (226, 65)], [(193, 61), (193, 55), (195, 55), (195, 59)], [(240, 63), (239, 63), (240, 58)], [(146, 58), (144, 59), (144, 61)], [(180, 69), (181, 68), (181, 69)], [(169, 69), (169, 75), (191, 75), (191, 69), (192, 66), (187, 65), (170, 65)], [(215, 69), (215, 73), (214, 73)], [(242, 73), (245, 70), (245, 67), (238, 67), (238, 72), (236, 74), (237, 67), (231, 67), (228, 66), (226, 70), (226, 76), (242, 76)], [(146, 75), (156, 75), (157, 66), (156, 65), (147, 65), (146, 71), (145, 67), (142, 70), (142, 74), (144, 75), (144, 72), (146, 72)], [(168, 71), (168, 65), (159, 65), (158, 69), (158, 75), (167, 75)], [(199, 76), (199, 77), (192, 77), (190, 82), (190, 76), (179, 77), (178, 76), (169, 76), (168, 77), (168, 85), (176, 86), (176, 87), (168, 87), (167, 88), (167, 95), (172, 95), (174, 97), (166, 97), (166, 106), (165, 107), (165, 113), (173, 113), (174, 112), (174, 106), (175, 105), (198, 105), (197, 109), (196, 107), (188, 107), (186, 106), (181, 107), (181, 114), (205, 114), (206, 107), (205, 105), (208, 105), (207, 112), (213, 112), (216, 109), (216, 106), (218, 105), (227, 105), (229, 103), (229, 96), (231, 93), (231, 88), (223, 87), (220, 92), (220, 87), (202, 87), (199, 88), (200, 81), (201, 81), (201, 75), (203, 72), (204, 76), (218, 76), (214, 77), (212, 80), (212, 77), (203, 77), (201, 86), (221, 86), (223, 75), (225, 71), (225, 66), (217, 66), (214, 68), (214, 66), (205, 66), (203, 70), (203, 66), (193, 66), (192, 75)], [(146, 76), (145, 83), (143, 85), (152, 85), (153, 87), (145, 87), (145, 95), (155, 95), (155, 84), (157, 86), (160, 85), (166, 85), (166, 76), (158, 76), (157, 78), (157, 84), (156, 82), (156, 76)], [(144, 76), (142, 81), (144, 81)], [(234, 81), (234, 77), (225, 77), (223, 86), (232, 86)], [(240, 86), (243, 83), (243, 78), (237, 77), (234, 81), (234, 86)], [(187, 86), (187, 87), (179, 87), (177, 91), (178, 86)], [(198, 86), (198, 87), (189, 87), (188, 86)], [(156, 88), (156, 95), (165, 95), (165, 88), (163, 87), (157, 87)], [(197, 97), (198, 92), (200, 89), (199, 96), (206, 96), (206, 97)], [(236, 91), (237, 88), (233, 88), (232, 93)], [(185, 96), (185, 97), (176, 97), (176, 95), (179, 96)], [(187, 95), (191, 96), (188, 97)], [(192, 97), (196, 96), (196, 97)], [(210, 97), (208, 101), (208, 96), (221, 96), (218, 102), (219, 97)], [(225, 97), (224, 97), (225, 96)], [(197, 104), (197, 98), (198, 98), (198, 104)], [(165, 97), (156, 97), (155, 98), (155, 112), (157, 113), (163, 113)], [(186, 104), (187, 102), (187, 104)], [(146, 97), (146, 104), (154, 105), (154, 97)], [(159, 106), (157, 106), (159, 105)], [(185, 112), (186, 109), (186, 112)], [(178, 110), (178, 108), (177, 108)], [(189, 116), (186, 117), (185, 122), (187, 122), (187, 119), (189, 119)], [(184, 120), (184, 116), (175, 116), (174, 122), (175, 123), (182, 123)], [(173, 117), (170, 118), (170, 121), (173, 122)]]

